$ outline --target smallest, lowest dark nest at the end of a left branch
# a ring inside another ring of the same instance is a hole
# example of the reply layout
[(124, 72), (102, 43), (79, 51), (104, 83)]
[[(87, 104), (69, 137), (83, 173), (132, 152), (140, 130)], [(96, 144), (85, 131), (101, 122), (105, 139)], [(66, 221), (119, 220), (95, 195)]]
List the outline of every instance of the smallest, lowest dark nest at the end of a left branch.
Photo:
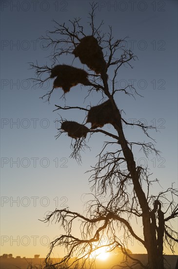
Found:
[(75, 121), (63, 121), (61, 129), (67, 132), (68, 136), (72, 138), (85, 138), (90, 131), (86, 126)]

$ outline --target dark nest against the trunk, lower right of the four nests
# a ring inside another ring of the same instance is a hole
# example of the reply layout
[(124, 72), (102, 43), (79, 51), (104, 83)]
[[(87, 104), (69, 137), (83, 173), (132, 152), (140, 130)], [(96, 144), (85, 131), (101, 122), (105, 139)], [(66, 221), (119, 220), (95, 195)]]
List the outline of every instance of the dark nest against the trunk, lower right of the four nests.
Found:
[(99, 106), (92, 107), (87, 115), (87, 121), (91, 122), (91, 129), (103, 127), (104, 124), (114, 123), (115, 113), (110, 100), (102, 103)]

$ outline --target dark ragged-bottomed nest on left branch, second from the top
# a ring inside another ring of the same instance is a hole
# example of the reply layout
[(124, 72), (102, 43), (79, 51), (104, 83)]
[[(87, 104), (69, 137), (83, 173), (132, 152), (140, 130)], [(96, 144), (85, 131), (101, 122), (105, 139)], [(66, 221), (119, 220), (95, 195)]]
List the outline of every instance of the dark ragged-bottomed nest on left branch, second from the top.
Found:
[(52, 68), (50, 78), (57, 77), (54, 80), (53, 88), (62, 88), (68, 92), (71, 87), (80, 84), (90, 85), (88, 74), (85, 70), (67, 65), (58, 65)]

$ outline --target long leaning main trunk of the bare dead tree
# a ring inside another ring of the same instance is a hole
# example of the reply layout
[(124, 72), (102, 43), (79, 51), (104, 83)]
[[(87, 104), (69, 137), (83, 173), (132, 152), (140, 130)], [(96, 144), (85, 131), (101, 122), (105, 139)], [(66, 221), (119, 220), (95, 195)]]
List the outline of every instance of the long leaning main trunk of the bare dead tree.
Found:
[(102, 73), (101, 78), (104, 84), (104, 93), (111, 100), (113, 109), (115, 111), (113, 115), (113, 117), (115, 118), (115, 124), (113, 125), (119, 134), (119, 142), (123, 151), (123, 155), (127, 162), (127, 169), (130, 172), (133, 185), (134, 185), (134, 191), (137, 195), (138, 202), (142, 210), (143, 235), (144, 235), (144, 241), (145, 241), (144, 247), (147, 249), (147, 253), (148, 253), (149, 268), (150, 269), (164, 269), (164, 266), (161, 262), (163, 261), (163, 259), (161, 259), (161, 255), (162, 255), (161, 248), (159, 248), (160, 252), (158, 253), (156, 226), (153, 229), (153, 225), (151, 223), (150, 208), (149, 208), (146, 196), (139, 182), (139, 176), (140, 176), (139, 171), (136, 168), (136, 163), (134, 161), (133, 153), (131, 149), (129, 148), (128, 142), (125, 139), (125, 136), (123, 133), (121, 114), (119, 112), (119, 109), (116, 106), (116, 103), (113, 97), (109, 93), (106, 74)]

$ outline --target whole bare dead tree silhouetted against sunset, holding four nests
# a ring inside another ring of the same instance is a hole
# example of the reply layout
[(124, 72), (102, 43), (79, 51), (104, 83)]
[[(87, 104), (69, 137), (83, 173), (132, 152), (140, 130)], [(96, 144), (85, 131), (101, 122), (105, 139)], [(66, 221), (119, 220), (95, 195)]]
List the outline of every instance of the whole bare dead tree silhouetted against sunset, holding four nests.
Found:
[[(137, 57), (130, 49), (122, 46), (123, 41), (127, 42), (126, 38), (114, 40), (112, 27), (109, 27), (109, 33), (104, 34), (101, 32), (103, 22), (98, 26), (95, 25), (96, 8), (97, 3), (93, 3), (89, 13), (91, 29), (89, 35), (84, 32), (80, 19), (69, 21), (70, 26), (55, 22), (55, 30), (47, 32), (46, 37), (41, 37), (41, 39), (48, 41), (47, 46), (52, 47), (50, 56), (52, 66), (40, 67), (38, 62), (37, 64), (31, 64), (31, 67), (36, 69), (37, 77), (35, 81), (37, 84), (42, 85), (55, 76), (58, 78), (54, 82), (53, 89), (42, 96), (42, 98), (46, 96), (48, 101), (56, 88), (62, 88), (65, 94), (71, 87), (79, 83), (79, 81), (72, 80), (72, 69), (68, 73), (69, 81), (64, 69), (62, 69), (63, 80), (60, 73), (55, 73), (58, 68), (61, 69), (61, 66), (55, 66), (61, 56), (75, 55), (75, 57), (79, 57), (82, 64), (85, 64), (84, 67), (87, 66), (90, 69), (86, 76), (89, 81), (88, 85), (90, 85), (88, 95), (97, 91), (102, 99), (102, 106), (88, 109), (80, 106), (61, 107), (56, 105), (57, 111), (78, 109), (87, 112), (87, 122), (92, 124), (90, 129), (84, 130), (82, 126), (86, 127), (85, 124), (71, 123), (61, 119), (61, 129), (59, 129), (57, 137), (62, 133), (67, 133), (75, 138), (71, 143), (73, 150), (71, 157), (75, 157), (79, 162), (81, 161), (80, 152), (87, 147), (85, 137), (88, 135), (92, 137), (95, 133), (101, 133), (109, 139), (109, 141), (104, 142), (104, 146), (98, 155), (97, 164), (90, 170), (93, 175), (89, 178), (89, 181), (92, 184), (91, 190), (94, 194), (93, 200), (87, 203), (86, 214), (83, 215), (65, 208), (56, 209), (46, 216), (44, 222), (56, 220), (56, 223), (59, 223), (65, 230), (65, 234), (51, 242), (46, 261), (50, 258), (54, 247), (62, 246), (65, 247), (67, 253), (59, 264), (65, 265), (71, 257), (75, 256), (72, 264), (81, 262), (84, 266), (92, 252), (105, 246), (108, 247), (108, 251), (119, 247), (120, 251), (126, 255), (127, 260), (133, 261), (132, 267), (127, 265), (129, 268), (140, 266), (140, 268), (163, 269), (163, 243), (170, 247), (174, 253), (175, 244), (178, 242), (178, 233), (171, 225), (171, 222), (178, 216), (178, 205), (175, 202), (178, 197), (178, 190), (172, 185), (167, 190), (160, 191), (158, 195), (151, 194), (151, 186), (158, 183), (158, 179), (151, 180), (148, 168), (136, 166), (133, 148), (138, 147), (146, 157), (150, 153), (159, 155), (154, 145), (154, 139), (149, 135), (149, 130), (156, 128), (146, 126), (139, 121), (129, 123), (123, 118), (123, 112), (119, 110), (116, 103), (117, 94), (124, 92), (126, 95), (135, 97), (138, 92), (132, 85), (123, 89), (116, 88), (116, 79), (119, 70), (124, 66), (132, 68), (131, 63)], [(107, 72), (109, 68), (114, 69), (111, 90), (108, 86)], [(49, 76), (44, 78), (44, 74), (49, 74)], [(85, 88), (88, 87), (85, 85), (87, 83), (80, 84), (84, 85)], [(105, 101), (107, 103), (103, 104)], [(107, 113), (105, 113), (105, 110)], [(114, 127), (113, 132), (101, 129), (103, 125), (108, 123)], [(123, 124), (140, 128), (149, 142), (127, 141), (123, 132)], [(124, 169), (122, 168), (123, 164), (126, 165)], [(102, 195), (109, 197), (107, 204), (100, 202), (99, 197)], [(135, 231), (135, 226), (132, 224), (133, 217), (137, 219), (138, 224), (139, 220), (141, 221), (142, 237), (138, 236)], [(81, 221), (79, 238), (74, 236), (73, 233), (73, 224), (76, 220)], [(120, 233), (124, 234), (122, 239), (119, 237)], [(107, 241), (101, 246), (99, 244), (102, 235), (107, 236)], [(145, 247), (148, 254), (147, 264), (133, 258), (132, 253), (127, 250), (128, 237), (135, 238), (139, 244)]]

